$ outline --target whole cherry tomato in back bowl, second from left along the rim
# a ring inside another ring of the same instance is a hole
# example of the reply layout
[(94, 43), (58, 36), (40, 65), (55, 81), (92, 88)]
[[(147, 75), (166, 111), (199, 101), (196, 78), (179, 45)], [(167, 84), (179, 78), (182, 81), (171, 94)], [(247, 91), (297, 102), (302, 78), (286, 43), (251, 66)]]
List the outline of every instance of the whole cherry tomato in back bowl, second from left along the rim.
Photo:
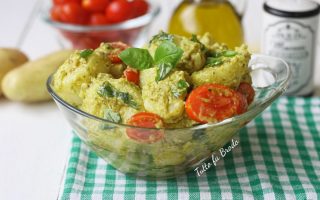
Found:
[(86, 24), (88, 12), (77, 3), (66, 3), (62, 5), (61, 20), (72, 24)]

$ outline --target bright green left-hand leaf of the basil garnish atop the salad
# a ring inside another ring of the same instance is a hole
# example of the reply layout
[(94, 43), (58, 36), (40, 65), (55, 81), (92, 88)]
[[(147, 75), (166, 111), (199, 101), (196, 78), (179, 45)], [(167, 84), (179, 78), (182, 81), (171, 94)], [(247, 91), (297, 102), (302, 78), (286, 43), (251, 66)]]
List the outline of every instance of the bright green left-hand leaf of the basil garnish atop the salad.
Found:
[(153, 66), (153, 59), (146, 49), (127, 48), (119, 54), (119, 58), (130, 67), (144, 70)]

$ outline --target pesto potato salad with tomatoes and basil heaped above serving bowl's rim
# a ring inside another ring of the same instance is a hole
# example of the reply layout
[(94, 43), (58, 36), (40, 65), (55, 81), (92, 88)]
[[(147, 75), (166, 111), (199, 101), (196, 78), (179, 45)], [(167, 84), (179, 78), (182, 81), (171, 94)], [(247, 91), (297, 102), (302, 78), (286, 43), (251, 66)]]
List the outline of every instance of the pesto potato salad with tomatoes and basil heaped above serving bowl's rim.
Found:
[[(246, 45), (229, 49), (209, 34), (160, 32), (143, 48), (114, 42), (77, 50), (52, 86), (70, 105), (113, 123), (187, 128), (246, 112), (254, 99), (249, 59)], [(144, 143), (163, 137), (160, 131), (126, 134)]]

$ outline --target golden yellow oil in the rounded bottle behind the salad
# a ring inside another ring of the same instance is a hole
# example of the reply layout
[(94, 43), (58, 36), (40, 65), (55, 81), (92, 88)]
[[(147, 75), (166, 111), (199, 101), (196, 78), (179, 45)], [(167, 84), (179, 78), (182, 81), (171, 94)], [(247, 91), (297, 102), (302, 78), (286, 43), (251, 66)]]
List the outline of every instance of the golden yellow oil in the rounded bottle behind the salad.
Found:
[(215, 41), (230, 48), (243, 43), (240, 17), (224, 0), (183, 1), (173, 13), (168, 29), (170, 33), (187, 37), (209, 32)]

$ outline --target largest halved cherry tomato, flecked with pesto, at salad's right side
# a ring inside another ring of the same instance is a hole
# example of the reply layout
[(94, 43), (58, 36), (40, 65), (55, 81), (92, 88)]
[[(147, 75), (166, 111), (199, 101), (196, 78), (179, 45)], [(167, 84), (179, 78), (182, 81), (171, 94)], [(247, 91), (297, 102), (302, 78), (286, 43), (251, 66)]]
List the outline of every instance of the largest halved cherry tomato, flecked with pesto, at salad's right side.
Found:
[(236, 91), (219, 84), (205, 84), (194, 89), (187, 98), (188, 116), (200, 123), (218, 122), (245, 108)]

